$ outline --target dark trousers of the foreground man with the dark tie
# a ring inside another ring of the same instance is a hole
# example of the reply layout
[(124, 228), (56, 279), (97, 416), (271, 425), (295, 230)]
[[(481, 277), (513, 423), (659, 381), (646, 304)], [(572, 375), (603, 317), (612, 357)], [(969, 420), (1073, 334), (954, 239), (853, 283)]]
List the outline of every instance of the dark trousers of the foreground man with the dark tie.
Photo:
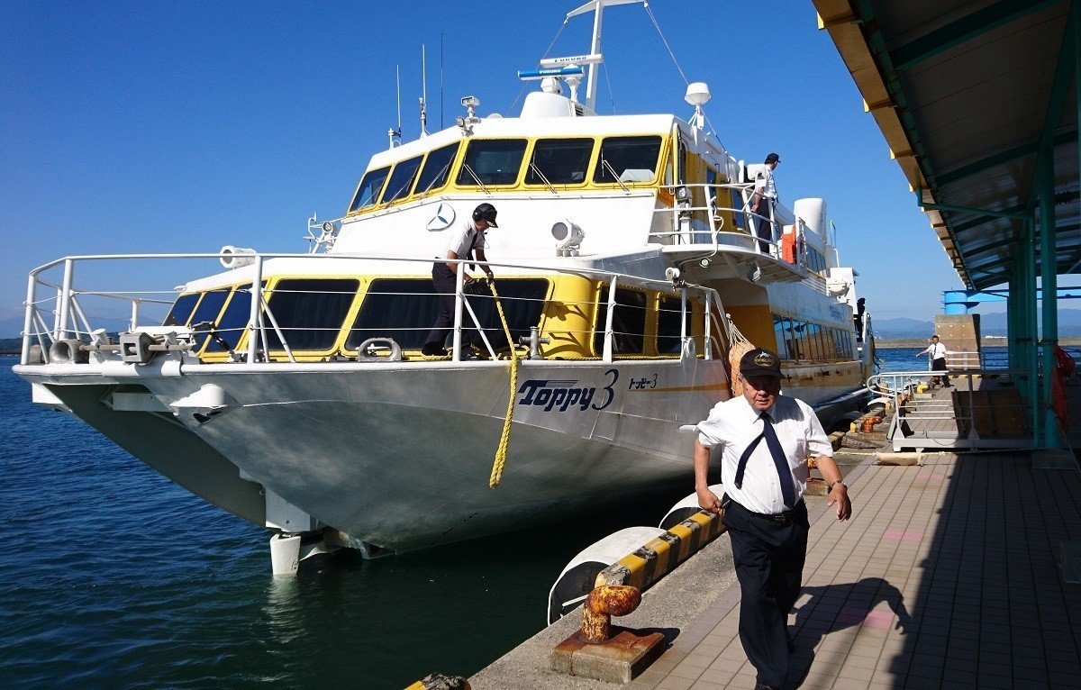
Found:
[(803, 585), (810, 530), (802, 500), (786, 515), (775, 521), (730, 501), (723, 518), (739, 580), (739, 641), (758, 681), (777, 688), (788, 674), (788, 612)]

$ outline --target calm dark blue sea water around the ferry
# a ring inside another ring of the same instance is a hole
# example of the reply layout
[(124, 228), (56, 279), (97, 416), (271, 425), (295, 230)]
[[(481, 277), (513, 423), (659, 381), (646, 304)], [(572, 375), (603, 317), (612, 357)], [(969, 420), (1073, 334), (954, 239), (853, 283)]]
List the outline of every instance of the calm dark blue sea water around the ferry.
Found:
[[(879, 355), (911, 370), (917, 351)], [(0, 358), (3, 688), (402, 688), (469, 675), (540, 629), (574, 554), (656, 525), (681, 497), (276, 580), (268, 532), (32, 404), (14, 363)]]

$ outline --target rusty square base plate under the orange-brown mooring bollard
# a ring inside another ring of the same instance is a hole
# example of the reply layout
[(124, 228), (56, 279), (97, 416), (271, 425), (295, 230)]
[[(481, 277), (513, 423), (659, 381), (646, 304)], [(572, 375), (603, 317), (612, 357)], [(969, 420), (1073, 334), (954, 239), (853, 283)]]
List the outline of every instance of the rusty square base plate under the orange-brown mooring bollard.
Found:
[(612, 639), (599, 645), (583, 641), (582, 632), (575, 632), (552, 649), (551, 669), (606, 682), (630, 682), (665, 650), (660, 633), (636, 635), (616, 626), (612, 632)]

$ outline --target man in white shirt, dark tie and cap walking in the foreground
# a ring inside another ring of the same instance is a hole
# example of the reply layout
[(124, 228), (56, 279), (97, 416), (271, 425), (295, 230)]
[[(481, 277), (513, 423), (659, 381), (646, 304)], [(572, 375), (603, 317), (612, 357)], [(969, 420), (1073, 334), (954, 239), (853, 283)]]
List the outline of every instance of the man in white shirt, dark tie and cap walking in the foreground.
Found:
[[(799, 598), (806, 557), (803, 492), (808, 460), (815, 457), (829, 486), (838, 520), (852, 515), (833, 448), (802, 400), (780, 395), (776, 353), (752, 349), (739, 361), (743, 395), (719, 402), (698, 427), (694, 488), (698, 505), (722, 519), (732, 542), (742, 593), (739, 640), (758, 671), (756, 688), (779, 688), (795, 650), (788, 612)], [(724, 499), (709, 489), (710, 449), (721, 448)]]

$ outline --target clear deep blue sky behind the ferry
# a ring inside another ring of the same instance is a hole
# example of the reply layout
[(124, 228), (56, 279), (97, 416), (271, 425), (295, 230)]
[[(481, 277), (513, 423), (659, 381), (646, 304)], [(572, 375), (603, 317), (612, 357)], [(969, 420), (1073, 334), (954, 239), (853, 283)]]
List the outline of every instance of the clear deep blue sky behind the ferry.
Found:
[[(467, 94), (482, 115), (515, 114), (516, 70), (535, 67), (574, 5), (0, 0), (0, 323), (22, 314), (27, 271), (64, 254), (306, 251), (306, 218), (341, 215), (386, 147), (395, 65), (406, 140), (423, 43), (429, 129), (440, 123), (441, 32), (445, 121)], [(729, 150), (779, 152), (783, 200), (826, 198), (872, 313), (939, 313), (960, 281), (811, 2), (651, 9), (688, 78), (709, 83)], [(645, 10), (604, 16), (599, 109), (688, 117)], [(590, 24), (572, 19), (551, 54), (587, 52)]]

